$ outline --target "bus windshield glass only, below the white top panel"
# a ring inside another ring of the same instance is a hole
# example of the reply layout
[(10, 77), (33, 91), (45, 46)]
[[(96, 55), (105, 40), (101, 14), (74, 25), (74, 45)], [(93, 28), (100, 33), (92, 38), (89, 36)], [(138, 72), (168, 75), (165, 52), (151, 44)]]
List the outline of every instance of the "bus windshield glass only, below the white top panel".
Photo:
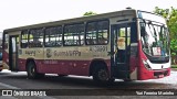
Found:
[(140, 38), (143, 51), (149, 56), (169, 55), (168, 31), (164, 24), (142, 19)]

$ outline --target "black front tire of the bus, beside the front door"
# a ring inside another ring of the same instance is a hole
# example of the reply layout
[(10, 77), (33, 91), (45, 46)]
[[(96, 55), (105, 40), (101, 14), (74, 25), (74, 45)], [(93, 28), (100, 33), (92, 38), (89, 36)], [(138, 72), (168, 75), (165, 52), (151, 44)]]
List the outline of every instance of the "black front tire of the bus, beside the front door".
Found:
[(112, 84), (115, 79), (110, 78), (108, 70), (105, 67), (100, 66), (93, 70), (93, 80), (95, 82)]

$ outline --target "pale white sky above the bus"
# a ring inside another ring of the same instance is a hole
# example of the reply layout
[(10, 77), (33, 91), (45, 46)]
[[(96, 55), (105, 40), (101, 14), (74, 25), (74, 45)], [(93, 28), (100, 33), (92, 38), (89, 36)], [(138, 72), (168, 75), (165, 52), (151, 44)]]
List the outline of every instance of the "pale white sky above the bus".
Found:
[(82, 16), (87, 11), (106, 13), (127, 7), (154, 11), (176, 8), (177, 0), (0, 0), (0, 32), (6, 29)]

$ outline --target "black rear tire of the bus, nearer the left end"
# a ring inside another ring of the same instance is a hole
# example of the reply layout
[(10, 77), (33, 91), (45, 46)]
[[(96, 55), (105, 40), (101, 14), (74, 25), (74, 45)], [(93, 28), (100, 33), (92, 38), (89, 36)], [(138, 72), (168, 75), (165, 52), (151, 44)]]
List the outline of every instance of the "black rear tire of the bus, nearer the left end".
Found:
[(27, 73), (28, 73), (28, 78), (30, 78), (30, 79), (44, 77), (44, 74), (39, 74), (37, 72), (37, 67), (35, 67), (35, 64), (33, 62), (28, 63)]

